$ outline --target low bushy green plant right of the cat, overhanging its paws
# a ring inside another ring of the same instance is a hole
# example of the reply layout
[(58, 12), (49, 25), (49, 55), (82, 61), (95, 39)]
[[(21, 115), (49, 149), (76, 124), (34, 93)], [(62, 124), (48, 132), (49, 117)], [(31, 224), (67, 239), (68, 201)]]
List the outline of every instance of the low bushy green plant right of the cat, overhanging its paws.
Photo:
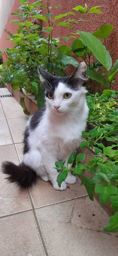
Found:
[[(118, 231), (118, 92), (104, 90), (101, 96), (88, 96), (89, 105), (88, 122), (95, 124), (94, 128), (82, 132), (84, 141), (81, 142), (80, 148), (95, 151), (89, 163), (81, 163), (85, 160), (85, 154), (80, 153), (76, 156), (76, 164), (68, 168), (64, 167), (65, 161), (56, 162), (55, 169), (60, 174), (57, 181), (60, 186), (62, 181), (73, 172), (73, 175), (81, 175), (81, 185), (84, 185), (89, 198), (93, 201), (94, 191), (99, 196), (101, 205), (104, 207), (107, 201), (111, 202), (111, 209), (115, 215), (110, 217), (109, 225), (104, 228), (106, 232)], [(86, 140), (85, 140), (86, 139)], [(106, 145), (109, 143), (109, 145)], [(73, 163), (76, 151), (72, 152), (68, 163)], [(93, 177), (86, 177), (89, 172)]]

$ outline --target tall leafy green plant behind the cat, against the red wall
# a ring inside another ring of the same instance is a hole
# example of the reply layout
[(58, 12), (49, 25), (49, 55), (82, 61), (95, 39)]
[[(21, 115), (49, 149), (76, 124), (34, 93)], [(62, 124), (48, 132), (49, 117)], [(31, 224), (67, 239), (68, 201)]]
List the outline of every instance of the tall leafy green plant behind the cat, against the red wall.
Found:
[[(78, 61), (71, 57), (72, 47), (65, 45), (68, 40), (76, 39), (77, 35), (54, 38), (54, 29), (58, 29), (59, 26), (66, 26), (70, 29), (73, 23), (91, 22), (85, 19), (87, 14), (102, 13), (98, 9), (101, 6), (89, 9), (85, 4), (85, 7), (76, 6), (70, 12), (54, 17), (53, 9), (60, 8), (60, 5), (51, 6), (50, 2), (50, 0), (45, 0), (43, 4), (41, 0), (34, 3), (30, 3), (29, 0), (20, 0), (17, 13), (12, 13), (17, 19), (11, 21), (18, 25), (17, 33), (9, 33), (11, 38), (7, 38), (14, 43), (14, 47), (1, 49), (3, 55), (8, 58), (8, 69), (13, 71), (10, 81), (14, 90), (20, 88), (22, 92), (24, 88), (26, 93), (35, 94), (38, 108), (44, 103), (44, 91), (40, 87), (37, 72), (38, 66), (58, 76), (67, 75), (66, 67), (69, 64), (78, 67)], [(42, 9), (44, 15), (41, 13)], [(42, 22), (45, 22), (45, 26)], [(63, 41), (65, 41), (64, 44)], [(21, 104), (24, 108), (24, 102), (21, 101)], [(24, 110), (26, 113), (26, 109)]]

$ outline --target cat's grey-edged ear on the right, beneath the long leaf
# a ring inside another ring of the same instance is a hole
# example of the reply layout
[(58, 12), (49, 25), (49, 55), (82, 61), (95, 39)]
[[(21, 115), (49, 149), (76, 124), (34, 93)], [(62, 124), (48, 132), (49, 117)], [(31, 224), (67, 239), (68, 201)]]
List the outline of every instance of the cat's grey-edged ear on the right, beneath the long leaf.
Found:
[(82, 79), (84, 81), (87, 80), (86, 76), (86, 64), (85, 62), (81, 62), (78, 68), (75, 70), (75, 73), (72, 75), (75, 79)]

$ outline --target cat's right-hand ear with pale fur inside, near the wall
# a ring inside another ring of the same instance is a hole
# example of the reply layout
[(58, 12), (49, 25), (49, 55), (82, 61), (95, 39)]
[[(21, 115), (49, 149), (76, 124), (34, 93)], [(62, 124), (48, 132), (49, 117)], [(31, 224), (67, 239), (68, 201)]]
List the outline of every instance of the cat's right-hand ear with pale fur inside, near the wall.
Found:
[(86, 64), (85, 62), (81, 62), (78, 66), (78, 68), (75, 70), (75, 73), (71, 76), (71, 79), (76, 79), (78, 81), (78, 84), (82, 86), (86, 78)]

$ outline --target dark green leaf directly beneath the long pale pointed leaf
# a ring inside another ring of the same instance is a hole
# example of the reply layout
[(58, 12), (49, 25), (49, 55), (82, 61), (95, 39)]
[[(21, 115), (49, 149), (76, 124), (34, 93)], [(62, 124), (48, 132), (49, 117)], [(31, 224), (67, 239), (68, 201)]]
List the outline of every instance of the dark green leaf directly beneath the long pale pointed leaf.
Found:
[(104, 76), (94, 70), (86, 70), (86, 76), (107, 87), (107, 80)]

